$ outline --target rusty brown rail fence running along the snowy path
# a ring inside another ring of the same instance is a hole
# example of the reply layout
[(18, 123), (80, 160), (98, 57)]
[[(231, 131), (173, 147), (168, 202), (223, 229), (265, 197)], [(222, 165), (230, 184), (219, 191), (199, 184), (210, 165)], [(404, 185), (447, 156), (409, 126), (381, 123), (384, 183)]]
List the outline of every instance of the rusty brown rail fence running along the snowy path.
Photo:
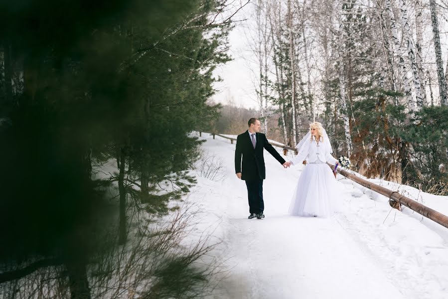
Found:
[[(233, 142), (236, 142), (236, 138), (231, 138), (231, 137), (227, 137), (221, 134), (216, 134), (216, 133), (208, 133), (211, 134), (213, 136), (213, 139), (215, 139), (215, 136), (219, 136), (225, 139), (230, 140), (230, 142), (233, 144)], [(202, 136), (202, 132), (199, 132), (199, 136)], [(271, 142), (271, 145), (273, 145), (274, 147), (278, 147), (283, 149), (283, 154), (287, 155), (288, 150), (292, 150), (294, 152), (296, 152), (297, 154), (297, 150), (295, 148), (292, 147), (288, 147), (285, 145), (281, 145), (278, 143), (274, 143)], [(328, 164), (332, 169), (334, 168), (334, 165)], [(340, 173), (341, 175), (345, 176), (346, 178), (360, 184), (361, 186), (364, 186), (366, 188), (369, 188), (370, 190), (380, 193), (381, 195), (384, 195), (386, 197), (389, 198), (389, 200), (391, 201), (395, 201), (397, 203), (400, 203), (408, 208), (410, 208), (413, 211), (416, 211), (417, 213), (419, 213), (422, 216), (425, 216), (431, 220), (433, 220), (434, 222), (439, 223), (442, 226), (445, 226), (446, 228), (448, 228), (448, 216), (439, 213), (436, 210), (433, 210), (409, 197), (406, 197), (404, 195), (401, 195), (399, 192), (397, 191), (392, 191), (389, 190), (387, 188), (384, 188), (380, 185), (374, 184), (372, 182), (369, 182), (365, 179), (362, 179), (346, 170), (343, 170), (341, 168), (337, 169), (337, 172)]]

